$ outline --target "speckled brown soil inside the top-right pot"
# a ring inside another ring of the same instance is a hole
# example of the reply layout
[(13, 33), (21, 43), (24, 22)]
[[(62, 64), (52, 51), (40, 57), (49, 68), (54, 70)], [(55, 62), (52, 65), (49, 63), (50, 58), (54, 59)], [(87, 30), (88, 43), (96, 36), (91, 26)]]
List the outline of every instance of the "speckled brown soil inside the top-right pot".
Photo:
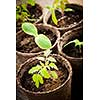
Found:
[(48, 24), (51, 24), (58, 28), (69, 27), (69, 25), (71, 26), (73, 24), (75, 25), (82, 19), (82, 14), (78, 11), (64, 12), (64, 15), (62, 15), (60, 12), (58, 13), (58, 11), (56, 11), (55, 13), (58, 19), (58, 25), (56, 26), (53, 23), (51, 16), (48, 20)]

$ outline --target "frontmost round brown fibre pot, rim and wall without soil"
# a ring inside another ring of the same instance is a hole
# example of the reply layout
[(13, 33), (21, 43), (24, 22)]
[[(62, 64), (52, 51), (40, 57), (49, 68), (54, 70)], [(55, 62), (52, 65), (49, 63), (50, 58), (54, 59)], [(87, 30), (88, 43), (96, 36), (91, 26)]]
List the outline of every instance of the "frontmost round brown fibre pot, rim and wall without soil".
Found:
[(53, 56), (57, 60), (57, 62), (62, 65), (61, 67), (65, 68), (65, 70), (68, 72), (68, 76), (64, 83), (62, 83), (55, 89), (42, 92), (32, 92), (24, 88), (21, 84), (21, 80), (25, 71), (29, 69), (29, 66), (37, 64), (39, 62), (36, 57), (30, 58), (21, 65), (17, 73), (17, 96), (21, 100), (71, 100), (71, 65), (65, 58), (60, 55), (52, 54), (51, 56)]

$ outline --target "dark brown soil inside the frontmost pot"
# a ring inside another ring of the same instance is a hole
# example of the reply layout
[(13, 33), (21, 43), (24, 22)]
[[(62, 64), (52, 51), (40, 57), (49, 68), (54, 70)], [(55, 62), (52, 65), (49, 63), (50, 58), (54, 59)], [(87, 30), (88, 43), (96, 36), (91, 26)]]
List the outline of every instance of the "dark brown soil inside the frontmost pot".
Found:
[(57, 63), (56, 65), (59, 68), (59, 70), (56, 71), (58, 74), (58, 79), (44, 79), (44, 84), (40, 85), (39, 88), (36, 88), (34, 82), (32, 81), (32, 75), (28, 74), (28, 70), (32, 67), (30, 66), (29, 69), (24, 72), (23, 77), (21, 78), (22, 87), (32, 92), (45, 92), (56, 89), (57, 87), (62, 85), (68, 78), (68, 71), (65, 68), (61, 67), (61, 63)]

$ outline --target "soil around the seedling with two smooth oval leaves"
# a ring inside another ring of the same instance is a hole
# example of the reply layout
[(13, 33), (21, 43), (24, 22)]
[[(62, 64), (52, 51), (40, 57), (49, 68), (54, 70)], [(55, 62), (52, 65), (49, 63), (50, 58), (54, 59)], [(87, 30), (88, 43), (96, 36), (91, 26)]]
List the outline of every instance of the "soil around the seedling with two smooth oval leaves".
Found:
[[(51, 30), (39, 30), (39, 34), (46, 35), (50, 40), (52, 45), (55, 43), (57, 37)], [(35, 44), (34, 37), (23, 33), (23, 36), (20, 36), (16, 40), (16, 50), (23, 53), (36, 53), (41, 51), (41, 49)]]

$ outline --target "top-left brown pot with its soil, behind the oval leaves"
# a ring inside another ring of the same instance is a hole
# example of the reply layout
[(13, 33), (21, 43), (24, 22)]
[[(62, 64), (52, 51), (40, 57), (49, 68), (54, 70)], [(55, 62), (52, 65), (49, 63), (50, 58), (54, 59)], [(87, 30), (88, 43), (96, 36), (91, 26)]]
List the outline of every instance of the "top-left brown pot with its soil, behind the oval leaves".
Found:
[[(30, 12), (30, 16), (34, 15), (34, 19), (35, 19), (35, 21), (27, 20), (28, 22), (32, 22), (32, 23), (42, 22), (43, 8), (39, 4), (36, 3), (35, 6), (31, 6), (31, 5), (27, 4), (27, 9)], [(21, 30), (22, 23), (23, 22), (21, 20), (16, 21), (16, 32)]]

